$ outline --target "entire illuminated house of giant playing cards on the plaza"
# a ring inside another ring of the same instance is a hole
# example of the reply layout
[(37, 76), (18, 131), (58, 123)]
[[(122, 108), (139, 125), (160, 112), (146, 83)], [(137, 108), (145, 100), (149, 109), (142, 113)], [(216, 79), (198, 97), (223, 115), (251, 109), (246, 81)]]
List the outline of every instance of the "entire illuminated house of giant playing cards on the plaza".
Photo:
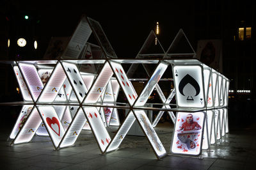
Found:
[[(92, 32), (99, 42), (97, 59), (91, 58), (96, 55), (93, 50), (96, 46), (87, 43)], [(77, 35), (81, 37), (79, 43)], [(49, 136), (58, 150), (73, 146), (81, 131), (90, 129), (100, 152), (108, 153), (118, 149), (134, 121), (138, 121), (156, 157), (163, 158), (167, 153), (154, 127), (166, 111), (175, 123), (170, 152), (200, 155), (202, 148), (209, 148), (209, 144), (216, 143), (228, 133), (229, 81), (197, 59), (179, 59), (180, 56), (195, 56), (193, 49), (190, 53), (175, 53), (174, 47), (180, 37), (188, 42), (180, 30), (167, 52), (158, 43), (160, 57), (141, 59), (143, 55), (150, 56), (145, 53), (145, 43), (136, 59), (117, 59), (99, 22), (82, 17), (60, 59), (8, 61), (13, 66), (24, 99), (24, 102), (2, 104), (22, 105), (9, 137), (11, 144), (28, 143), (36, 134)], [(155, 38), (151, 32), (146, 42)], [(188, 45), (191, 47), (189, 42)], [(131, 64), (132, 70), (140, 63), (150, 78), (137, 95), (128, 78), (132, 71), (126, 74), (122, 64)], [(165, 97), (159, 81), (168, 67), (173, 73), (170, 79), (174, 82), (174, 89), (170, 89)], [(119, 89), (127, 98), (128, 106), (116, 104)], [(150, 108), (145, 105), (154, 89), (163, 106), (151, 108), (159, 111), (151, 123), (145, 112)], [(171, 108), (174, 96), (176, 105)], [(117, 109), (129, 110), (122, 125)], [(113, 137), (108, 133), (109, 125), (120, 125)], [(205, 147), (202, 146), (204, 143)]]

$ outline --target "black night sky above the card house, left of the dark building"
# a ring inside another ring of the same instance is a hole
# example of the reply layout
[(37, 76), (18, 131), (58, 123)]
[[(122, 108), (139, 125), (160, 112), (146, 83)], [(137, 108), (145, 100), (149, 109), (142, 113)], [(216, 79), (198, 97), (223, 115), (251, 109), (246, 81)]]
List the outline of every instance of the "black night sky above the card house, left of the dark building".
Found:
[(9, 11), (28, 13), (40, 19), (36, 36), (43, 54), (51, 36), (71, 36), (83, 14), (101, 24), (118, 58), (134, 58), (150, 31), (156, 29), (157, 21), (159, 41), (164, 50), (168, 49), (180, 28), (195, 48), (192, 2), (186, 2), (186, 5), (182, 1), (146, 1), (145, 4), (138, 4), (138, 1), (22, 2), (14, 3)]

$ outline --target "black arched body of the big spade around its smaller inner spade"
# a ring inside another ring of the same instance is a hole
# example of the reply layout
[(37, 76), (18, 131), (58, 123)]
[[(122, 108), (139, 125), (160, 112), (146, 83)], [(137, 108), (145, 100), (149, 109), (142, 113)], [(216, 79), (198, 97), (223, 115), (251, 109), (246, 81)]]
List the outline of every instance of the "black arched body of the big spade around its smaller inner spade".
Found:
[(180, 81), (180, 84), (179, 84), (179, 91), (182, 95), (184, 95), (183, 89), (187, 84), (191, 84), (195, 88), (196, 90), (195, 96), (197, 96), (200, 93), (199, 84), (196, 82), (196, 80), (193, 77), (191, 77), (191, 75), (187, 74), (183, 77), (183, 79)]

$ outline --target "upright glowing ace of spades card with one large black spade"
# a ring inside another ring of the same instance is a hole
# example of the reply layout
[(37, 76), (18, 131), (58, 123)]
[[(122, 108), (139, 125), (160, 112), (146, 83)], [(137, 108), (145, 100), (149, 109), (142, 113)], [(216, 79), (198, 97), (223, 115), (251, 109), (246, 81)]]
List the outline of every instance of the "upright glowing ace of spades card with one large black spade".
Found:
[(173, 74), (179, 107), (205, 107), (202, 67), (173, 66)]

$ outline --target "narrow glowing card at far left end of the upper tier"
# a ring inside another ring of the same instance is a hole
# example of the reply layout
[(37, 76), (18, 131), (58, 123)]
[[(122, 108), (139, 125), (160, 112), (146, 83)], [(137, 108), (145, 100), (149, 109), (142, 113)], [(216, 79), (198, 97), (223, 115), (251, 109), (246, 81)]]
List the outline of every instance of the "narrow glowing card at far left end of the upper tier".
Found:
[(19, 67), (18, 66), (13, 66), (13, 70), (15, 72), (15, 75), (16, 75), (16, 78), (17, 78), (17, 81), (19, 83), (19, 86), (20, 86), (20, 91), (21, 91), (21, 94), (22, 94), (22, 97), (24, 98), (24, 100), (26, 101), (32, 101), (32, 98), (31, 98), (31, 95), (29, 93), (29, 90), (27, 88), (27, 85), (26, 83), (24, 82), (24, 79), (20, 73), (20, 70), (19, 70)]

